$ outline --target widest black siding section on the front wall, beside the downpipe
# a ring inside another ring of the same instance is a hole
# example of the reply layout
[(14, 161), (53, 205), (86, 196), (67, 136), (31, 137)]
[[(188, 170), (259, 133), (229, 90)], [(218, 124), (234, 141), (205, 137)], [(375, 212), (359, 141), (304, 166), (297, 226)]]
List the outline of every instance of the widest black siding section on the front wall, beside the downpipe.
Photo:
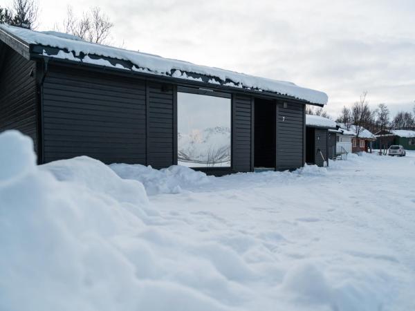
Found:
[(145, 83), (50, 66), (43, 88), (44, 162), (90, 156), (146, 162)]

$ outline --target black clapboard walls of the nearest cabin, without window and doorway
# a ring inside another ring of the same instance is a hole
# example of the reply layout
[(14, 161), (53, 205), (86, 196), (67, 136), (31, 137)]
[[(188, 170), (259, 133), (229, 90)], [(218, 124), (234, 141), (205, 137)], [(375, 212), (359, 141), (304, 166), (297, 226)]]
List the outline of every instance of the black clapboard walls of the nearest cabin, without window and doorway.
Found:
[[(30, 135), (36, 149), (39, 145), (42, 150), (39, 163), (90, 156), (107, 164), (145, 164), (156, 169), (177, 164), (177, 84), (59, 62), (43, 68), (40, 61), (29, 62), (13, 50), (9, 52), (5, 57), (10, 59), (2, 63), (0, 73), (3, 79), (10, 80), (0, 86), (0, 126)], [(36, 76), (37, 68), (41, 68), (39, 79), (29, 75), (33, 69)], [(255, 97), (229, 93), (231, 167), (201, 169), (215, 175), (254, 169)], [(273, 102), (276, 169), (302, 167), (304, 104)]]

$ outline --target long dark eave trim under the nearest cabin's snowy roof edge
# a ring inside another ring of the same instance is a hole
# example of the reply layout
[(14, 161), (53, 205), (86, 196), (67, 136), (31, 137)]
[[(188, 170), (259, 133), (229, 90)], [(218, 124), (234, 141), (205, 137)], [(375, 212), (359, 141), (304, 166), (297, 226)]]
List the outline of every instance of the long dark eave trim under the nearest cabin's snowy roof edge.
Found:
[(298, 98), (295, 98), (293, 96), (288, 96), (288, 95), (282, 95), (282, 94), (271, 93), (271, 92), (266, 92), (266, 91), (255, 91), (255, 90), (248, 89), (248, 88), (238, 88), (238, 87), (233, 87), (233, 86), (210, 84), (210, 83), (206, 83), (206, 82), (199, 82), (199, 81), (181, 79), (181, 78), (176, 78), (176, 77), (154, 75), (154, 74), (151, 74), (151, 73), (141, 73), (141, 72), (136, 72), (136, 71), (133, 71), (133, 70), (125, 70), (125, 69), (120, 69), (120, 68), (115, 68), (115, 67), (108, 67), (108, 66), (102, 66), (102, 65), (96, 65), (96, 64), (75, 62), (75, 61), (71, 61), (71, 60), (68, 60), (68, 59), (57, 59), (55, 57), (48, 57), (48, 56), (45, 56), (45, 55), (39, 55), (37, 53), (32, 53), (30, 58), (33, 59), (33, 60), (48, 58), (49, 62), (58, 63), (61, 66), (69, 66), (69, 67), (72, 67), (72, 68), (84, 67), (84, 68), (88, 68), (88, 70), (94, 70), (94, 71), (97, 71), (97, 72), (105, 71), (107, 73), (109, 72), (109, 73), (113, 73), (113, 74), (117, 74), (117, 75), (122, 75), (124, 77), (134, 76), (134, 77), (138, 77), (140, 79), (148, 79), (149, 81), (153, 81), (153, 82), (177, 84), (178, 86), (183, 86), (183, 87), (205, 88), (205, 89), (209, 89), (209, 90), (213, 90), (213, 91), (218, 91), (219, 93), (223, 92), (223, 91), (227, 91), (228, 93), (232, 93), (232, 94), (253, 95), (255, 97), (264, 98), (264, 99), (268, 99), (268, 100), (279, 99), (279, 100), (285, 100), (285, 101), (289, 101), (289, 102), (293, 102), (293, 103), (297, 103), (297, 104), (308, 104), (308, 105), (313, 105), (313, 106), (324, 106), (324, 105), (321, 105), (321, 104), (308, 102), (306, 100), (299, 100)]

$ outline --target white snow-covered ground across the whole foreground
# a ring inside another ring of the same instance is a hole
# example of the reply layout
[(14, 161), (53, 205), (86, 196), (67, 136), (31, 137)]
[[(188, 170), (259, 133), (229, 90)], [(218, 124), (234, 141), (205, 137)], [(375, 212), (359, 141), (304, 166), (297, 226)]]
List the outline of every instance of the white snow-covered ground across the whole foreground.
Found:
[(214, 178), (0, 146), (0, 310), (415, 309), (414, 152)]

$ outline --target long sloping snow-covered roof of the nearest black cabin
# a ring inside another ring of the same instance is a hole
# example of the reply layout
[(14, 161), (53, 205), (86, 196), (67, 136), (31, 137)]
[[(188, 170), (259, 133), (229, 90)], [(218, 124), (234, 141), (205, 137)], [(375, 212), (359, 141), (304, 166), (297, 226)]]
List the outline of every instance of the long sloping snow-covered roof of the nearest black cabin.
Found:
[[(313, 104), (324, 105), (327, 104), (328, 101), (326, 93), (311, 90), (310, 88), (303, 88), (292, 82), (255, 77), (230, 70), (200, 66), (176, 59), (167, 59), (158, 55), (124, 50), (122, 48), (104, 46), (102, 44), (93, 44), (80, 38), (59, 32), (37, 32), (6, 25), (0, 25), (0, 30), (14, 35), (29, 45), (57, 48), (59, 49), (59, 53), (49, 55), (43, 50), (43, 55), (58, 59), (67, 59), (87, 64), (98, 64), (101, 66), (133, 70), (153, 75), (219, 84), (222, 86), (245, 88), (252, 91), (266, 91), (280, 95), (288, 95), (299, 100), (306, 100)], [(127, 66), (126, 68), (122, 64), (113, 64), (113, 62), (109, 62), (109, 60), (105, 58), (119, 59), (124, 62), (129, 62), (132, 65)], [(201, 76), (205, 77), (205, 79)]]

